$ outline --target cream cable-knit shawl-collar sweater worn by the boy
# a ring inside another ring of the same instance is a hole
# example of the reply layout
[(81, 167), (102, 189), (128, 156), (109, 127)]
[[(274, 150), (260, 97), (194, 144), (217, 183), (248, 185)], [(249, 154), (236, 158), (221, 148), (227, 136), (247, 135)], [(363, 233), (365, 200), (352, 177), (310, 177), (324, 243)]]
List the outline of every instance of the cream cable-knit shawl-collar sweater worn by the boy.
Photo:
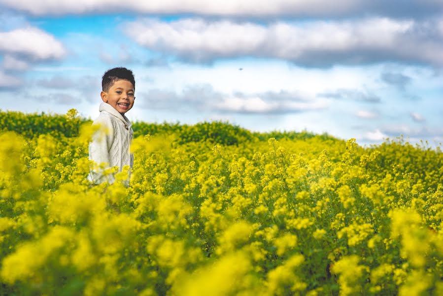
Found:
[[(117, 166), (120, 172), (125, 165), (132, 168), (134, 154), (130, 153), (129, 146), (134, 131), (131, 128), (131, 121), (107, 103), (100, 104), (99, 111), (100, 116), (93, 125), (102, 125), (107, 133), (99, 130), (94, 134), (92, 142), (89, 143), (89, 159), (98, 165), (105, 163), (106, 168)], [(112, 175), (103, 176), (99, 169), (92, 170), (88, 179), (94, 184), (114, 182)]]

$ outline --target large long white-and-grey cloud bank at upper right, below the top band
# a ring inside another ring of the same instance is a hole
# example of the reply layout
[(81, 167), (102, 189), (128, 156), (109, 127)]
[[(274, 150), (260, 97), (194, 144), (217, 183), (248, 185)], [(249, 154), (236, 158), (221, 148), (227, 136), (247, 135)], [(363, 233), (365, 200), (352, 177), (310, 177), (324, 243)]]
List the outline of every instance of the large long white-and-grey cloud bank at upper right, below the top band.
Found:
[(191, 62), (253, 56), (329, 67), (408, 61), (443, 65), (443, 32), (436, 21), (388, 18), (347, 21), (274, 22), (147, 18), (128, 22), (124, 32), (138, 44)]

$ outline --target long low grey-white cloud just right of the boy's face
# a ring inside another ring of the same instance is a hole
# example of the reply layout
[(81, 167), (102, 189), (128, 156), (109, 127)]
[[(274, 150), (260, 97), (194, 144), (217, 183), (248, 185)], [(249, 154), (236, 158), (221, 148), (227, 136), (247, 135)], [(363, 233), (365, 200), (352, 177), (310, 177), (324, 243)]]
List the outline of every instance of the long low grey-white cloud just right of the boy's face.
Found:
[(171, 111), (212, 111), (242, 114), (285, 114), (322, 110), (328, 105), (285, 90), (259, 94), (224, 94), (209, 84), (188, 86), (181, 93), (152, 89), (137, 96), (141, 108)]

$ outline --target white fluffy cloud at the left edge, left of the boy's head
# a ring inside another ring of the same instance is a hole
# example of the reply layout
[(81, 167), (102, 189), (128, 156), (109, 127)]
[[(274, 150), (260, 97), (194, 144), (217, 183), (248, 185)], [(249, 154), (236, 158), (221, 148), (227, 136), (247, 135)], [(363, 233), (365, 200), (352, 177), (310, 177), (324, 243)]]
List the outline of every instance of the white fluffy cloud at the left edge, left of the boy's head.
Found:
[(0, 40), (0, 52), (32, 60), (60, 59), (66, 54), (60, 41), (34, 27), (0, 32)]

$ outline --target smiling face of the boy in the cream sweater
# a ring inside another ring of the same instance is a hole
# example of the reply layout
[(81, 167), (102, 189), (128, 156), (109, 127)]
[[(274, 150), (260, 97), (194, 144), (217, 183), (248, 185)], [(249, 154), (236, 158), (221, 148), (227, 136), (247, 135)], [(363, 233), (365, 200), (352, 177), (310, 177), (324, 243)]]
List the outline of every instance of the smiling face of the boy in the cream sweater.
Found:
[(104, 103), (108, 103), (124, 115), (134, 106), (134, 85), (125, 79), (116, 80), (108, 91), (100, 94)]

